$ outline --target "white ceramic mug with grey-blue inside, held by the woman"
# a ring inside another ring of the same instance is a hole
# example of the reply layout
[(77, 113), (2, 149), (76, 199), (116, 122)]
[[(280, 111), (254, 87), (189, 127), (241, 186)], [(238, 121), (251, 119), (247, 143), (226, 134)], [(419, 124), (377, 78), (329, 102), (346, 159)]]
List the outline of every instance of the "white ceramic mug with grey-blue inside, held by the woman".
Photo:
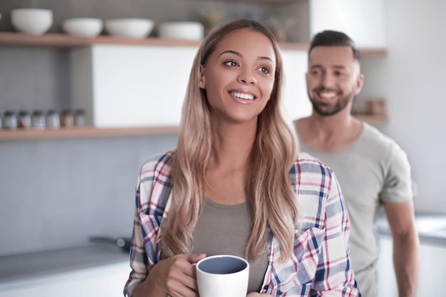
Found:
[(246, 297), (249, 263), (232, 255), (209, 256), (197, 262), (199, 297)]

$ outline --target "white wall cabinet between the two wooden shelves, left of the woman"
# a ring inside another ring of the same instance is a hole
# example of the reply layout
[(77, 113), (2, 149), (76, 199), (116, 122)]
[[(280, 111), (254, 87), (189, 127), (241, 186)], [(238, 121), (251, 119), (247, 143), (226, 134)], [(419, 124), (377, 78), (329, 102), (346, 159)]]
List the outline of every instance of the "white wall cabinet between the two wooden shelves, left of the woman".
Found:
[(98, 45), (71, 53), (74, 108), (96, 127), (178, 125), (196, 47)]

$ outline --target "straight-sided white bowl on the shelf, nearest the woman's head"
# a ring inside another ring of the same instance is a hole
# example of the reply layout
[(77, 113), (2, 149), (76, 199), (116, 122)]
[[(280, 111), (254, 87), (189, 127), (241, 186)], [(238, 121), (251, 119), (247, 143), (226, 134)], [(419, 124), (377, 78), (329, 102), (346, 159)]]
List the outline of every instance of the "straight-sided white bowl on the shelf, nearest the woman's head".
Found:
[(158, 26), (161, 38), (182, 40), (202, 40), (204, 36), (203, 24), (194, 21), (170, 21)]

